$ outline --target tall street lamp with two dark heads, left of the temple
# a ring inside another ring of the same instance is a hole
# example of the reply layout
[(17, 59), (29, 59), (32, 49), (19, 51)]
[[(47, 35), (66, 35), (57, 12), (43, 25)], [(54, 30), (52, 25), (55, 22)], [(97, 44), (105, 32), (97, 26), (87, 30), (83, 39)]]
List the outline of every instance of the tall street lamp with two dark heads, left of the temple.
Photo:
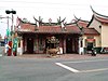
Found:
[(13, 30), (13, 27), (14, 27), (14, 25), (13, 25), (13, 23), (14, 23), (13, 14), (16, 14), (16, 11), (14, 11), (14, 10), (11, 10), (11, 11), (6, 10), (5, 13), (6, 14), (12, 14), (12, 26), (11, 26), (11, 37), (12, 37), (12, 46), (11, 46), (11, 49), (12, 49), (12, 51), (11, 51), (11, 55), (13, 55), (13, 31), (14, 31)]

